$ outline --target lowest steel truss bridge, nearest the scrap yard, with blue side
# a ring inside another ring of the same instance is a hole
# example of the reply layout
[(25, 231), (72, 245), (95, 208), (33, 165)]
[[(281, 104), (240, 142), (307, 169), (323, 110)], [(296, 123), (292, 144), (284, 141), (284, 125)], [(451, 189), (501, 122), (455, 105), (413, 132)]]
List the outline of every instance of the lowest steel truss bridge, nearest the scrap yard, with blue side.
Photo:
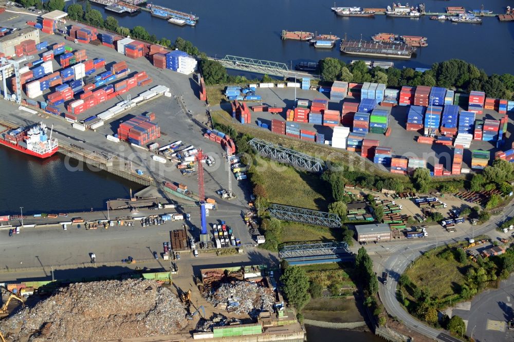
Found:
[(351, 254), (346, 242), (300, 242), (281, 246), (279, 256), (282, 259), (331, 257)]

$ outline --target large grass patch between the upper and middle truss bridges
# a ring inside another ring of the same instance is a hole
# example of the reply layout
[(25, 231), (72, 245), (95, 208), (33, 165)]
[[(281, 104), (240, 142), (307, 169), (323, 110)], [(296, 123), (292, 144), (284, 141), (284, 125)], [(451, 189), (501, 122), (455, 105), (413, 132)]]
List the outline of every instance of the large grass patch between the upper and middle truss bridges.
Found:
[(267, 159), (259, 160), (259, 165), (265, 166), (259, 174), (270, 202), (327, 211), (331, 194), (318, 175)]

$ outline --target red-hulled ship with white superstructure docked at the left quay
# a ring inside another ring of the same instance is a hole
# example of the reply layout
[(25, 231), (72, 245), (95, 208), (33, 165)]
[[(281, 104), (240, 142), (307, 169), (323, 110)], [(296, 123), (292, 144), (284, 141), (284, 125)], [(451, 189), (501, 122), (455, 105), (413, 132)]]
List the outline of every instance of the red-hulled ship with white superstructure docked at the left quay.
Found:
[(29, 127), (19, 127), (0, 133), (0, 144), (27, 155), (48, 158), (59, 149), (56, 138), (47, 135), (48, 128), (43, 122)]

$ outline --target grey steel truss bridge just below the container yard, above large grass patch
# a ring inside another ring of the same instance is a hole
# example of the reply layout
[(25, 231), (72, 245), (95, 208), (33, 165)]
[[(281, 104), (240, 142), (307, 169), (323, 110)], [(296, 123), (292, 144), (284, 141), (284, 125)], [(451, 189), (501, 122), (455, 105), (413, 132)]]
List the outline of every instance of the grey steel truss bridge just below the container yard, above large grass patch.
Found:
[(248, 143), (263, 157), (286, 163), (315, 174), (320, 174), (325, 169), (325, 162), (321, 159), (314, 158), (293, 149), (275, 145), (258, 138), (253, 138)]

